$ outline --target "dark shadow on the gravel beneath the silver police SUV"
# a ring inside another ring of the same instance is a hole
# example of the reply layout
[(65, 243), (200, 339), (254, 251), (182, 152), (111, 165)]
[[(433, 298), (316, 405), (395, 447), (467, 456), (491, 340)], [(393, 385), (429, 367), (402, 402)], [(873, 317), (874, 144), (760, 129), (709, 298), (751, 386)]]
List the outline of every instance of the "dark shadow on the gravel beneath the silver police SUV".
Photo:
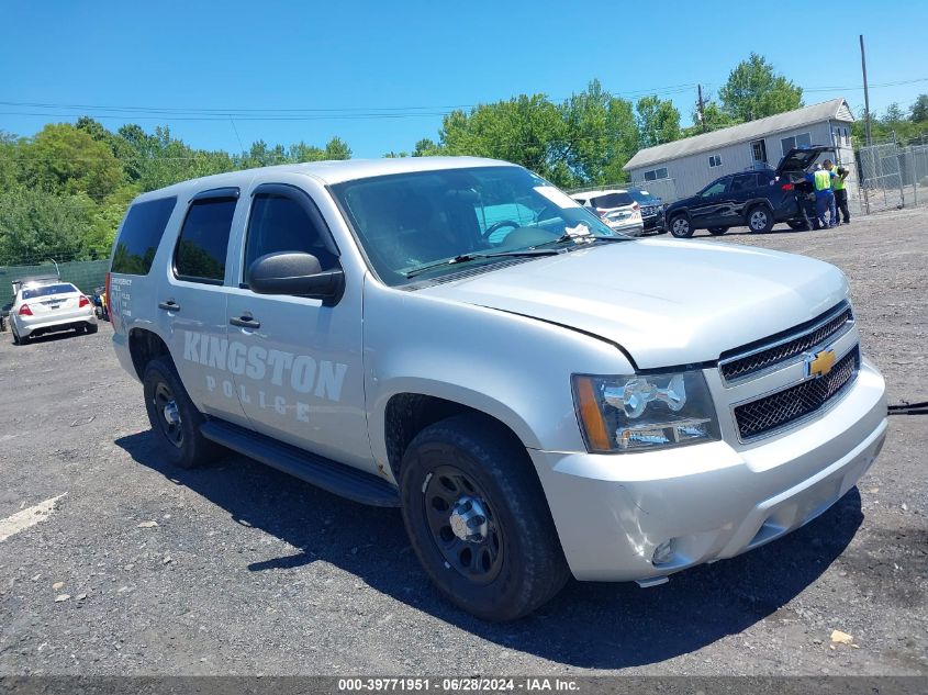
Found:
[(398, 509), (348, 502), (232, 453), (204, 469), (171, 468), (150, 431), (123, 437), (116, 445), (138, 463), (226, 509), (235, 522), (303, 550), (255, 562), (248, 567), (253, 572), (298, 570), (324, 560), (483, 639), (591, 669), (660, 662), (745, 630), (815, 582), (863, 520), (853, 489), (808, 526), (733, 560), (682, 572), (647, 590), (634, 583), (571, 581), (535, 615), (492, 625), (458, 610), (428, 583)]

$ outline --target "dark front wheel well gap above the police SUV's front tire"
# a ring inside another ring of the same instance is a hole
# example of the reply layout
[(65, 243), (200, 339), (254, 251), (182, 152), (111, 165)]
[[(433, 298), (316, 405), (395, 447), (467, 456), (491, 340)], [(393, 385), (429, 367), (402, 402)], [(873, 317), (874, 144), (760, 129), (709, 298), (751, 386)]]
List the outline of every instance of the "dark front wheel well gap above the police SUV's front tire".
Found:
[(398, 393), (387, 403), (383, 423), (387, 458), (393, 478), (396, 481), (400, 480), (403, 453), (418, 433), (439, 421), (465, 413), (473, 413), (487, 418), (491, 427), (497, 426), (524, 448), (522, 440), (508, 425), (482, 411), (421, 393)]

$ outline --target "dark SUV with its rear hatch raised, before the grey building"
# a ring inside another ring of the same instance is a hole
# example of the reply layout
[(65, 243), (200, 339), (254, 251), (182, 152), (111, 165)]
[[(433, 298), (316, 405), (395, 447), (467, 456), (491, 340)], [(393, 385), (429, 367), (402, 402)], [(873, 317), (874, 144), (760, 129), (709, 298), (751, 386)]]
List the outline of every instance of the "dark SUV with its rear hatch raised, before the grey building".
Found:
[(805, 172), (821, 154), (832, 150), (825, 146), (794, 148), (776, 169), (742, 171), (716, 179), (695, 195), (668, 206), (670, 233), (686, 238), (696, 229), (720, 235), (730, 227), (741, 226), (763, 233), (779, 222), (800, 228), (805, 224), (800, 205), (812, 190)]

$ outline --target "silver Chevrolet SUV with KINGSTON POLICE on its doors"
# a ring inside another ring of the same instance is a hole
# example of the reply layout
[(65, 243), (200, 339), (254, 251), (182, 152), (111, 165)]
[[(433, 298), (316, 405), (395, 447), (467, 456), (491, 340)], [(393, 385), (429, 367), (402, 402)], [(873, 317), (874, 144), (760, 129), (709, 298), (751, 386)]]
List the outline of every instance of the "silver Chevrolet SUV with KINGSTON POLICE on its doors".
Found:
[(630, 238), (496, 160), (145, 193), (108, 302), (171, 461), (221, 445), (399, 506), (429, 578), (490, 620), (571, 574), (647, 586), (779, 538), (886, 430), (839, 270)]

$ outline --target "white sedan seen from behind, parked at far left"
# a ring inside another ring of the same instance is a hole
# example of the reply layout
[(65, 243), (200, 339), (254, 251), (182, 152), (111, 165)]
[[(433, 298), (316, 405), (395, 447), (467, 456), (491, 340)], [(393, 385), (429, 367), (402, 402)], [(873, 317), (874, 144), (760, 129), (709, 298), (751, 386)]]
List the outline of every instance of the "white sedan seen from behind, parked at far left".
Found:
[(93, 304), (70, 282), (24, 278), (14, 280), (13, 289), (10, 329), (16, 345), (56, 330), (97, 333)]

